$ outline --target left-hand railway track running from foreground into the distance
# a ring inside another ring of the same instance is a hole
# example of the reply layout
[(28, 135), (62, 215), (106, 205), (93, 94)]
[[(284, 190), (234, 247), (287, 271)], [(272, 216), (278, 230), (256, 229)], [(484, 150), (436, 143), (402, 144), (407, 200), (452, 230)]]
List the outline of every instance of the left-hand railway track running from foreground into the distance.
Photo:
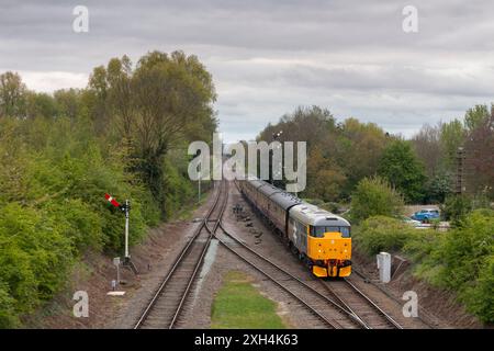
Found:
[[(217, 190), (213, 206), (178, 254), (170, 271), (134, 325), (134, 329), (171, 329), (177, 326), (213, 238), (212, 234), (217, 229), (225, 211), (227, 191), (227, 184), (223, 181)], [(209, 223), (214, 223), (212, 229)]]

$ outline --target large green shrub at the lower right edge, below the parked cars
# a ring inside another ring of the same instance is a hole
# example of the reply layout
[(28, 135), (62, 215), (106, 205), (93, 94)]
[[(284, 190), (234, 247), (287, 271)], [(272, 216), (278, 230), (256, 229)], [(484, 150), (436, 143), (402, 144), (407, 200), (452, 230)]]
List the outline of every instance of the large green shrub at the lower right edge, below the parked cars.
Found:
[(494, 321), (494, 212), (476, 210), (461, 227), (438, 237), (417, 267), (416, 275), (458, 292), (468, 310)]

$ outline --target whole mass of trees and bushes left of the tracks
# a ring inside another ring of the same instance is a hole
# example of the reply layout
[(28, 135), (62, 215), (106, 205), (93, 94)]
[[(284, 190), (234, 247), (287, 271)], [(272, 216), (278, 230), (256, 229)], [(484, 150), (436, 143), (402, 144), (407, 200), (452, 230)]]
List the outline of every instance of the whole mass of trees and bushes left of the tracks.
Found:
[(112, 58), (87, 88), (54, 93), (0, 75), (0, 327), (59, 292), (88, 249), (120, 252), (105, 192), (131, 200), (132, 242), (192, 201), (187, 146), (216, 129), (215, 99), (182, 52)]

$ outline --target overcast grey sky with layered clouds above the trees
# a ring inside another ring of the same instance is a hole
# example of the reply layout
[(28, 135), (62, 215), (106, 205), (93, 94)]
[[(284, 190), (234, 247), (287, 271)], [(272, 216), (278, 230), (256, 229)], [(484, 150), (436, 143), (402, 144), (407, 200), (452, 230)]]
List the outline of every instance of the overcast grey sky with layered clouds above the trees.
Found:
[[(79, 4), (89, 33), (72, 31)], [(402, 29), (408, 4), (417, 33)], [(212, 72), (228, 141), (312, 104), (411, 136), (494, 101), (493, 18), (491, 0), (0, 0), (0, 71), (83, 88), (112, 57), (182, 49)]]

